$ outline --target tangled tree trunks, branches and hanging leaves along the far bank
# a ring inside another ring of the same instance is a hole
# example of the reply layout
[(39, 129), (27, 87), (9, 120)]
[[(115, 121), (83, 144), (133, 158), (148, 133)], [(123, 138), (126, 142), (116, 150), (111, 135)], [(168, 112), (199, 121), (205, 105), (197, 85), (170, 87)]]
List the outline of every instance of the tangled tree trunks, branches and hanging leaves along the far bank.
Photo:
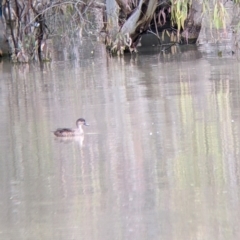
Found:
[(205, 37), (216, 42), (219, 35), (213, 31), (232, 31), (232, 51), (240, 46), (240, 0), (1, 2), (0, 55), (10, 55), (12, 62), (51, 61), (56, 39), (64, 47), (64, 41), (83, 36), (101, 39), (112, 56), (136, 52), (146, 35), (153, 35), (163, 48), (196, 44), (203, 26), (210, 29)]

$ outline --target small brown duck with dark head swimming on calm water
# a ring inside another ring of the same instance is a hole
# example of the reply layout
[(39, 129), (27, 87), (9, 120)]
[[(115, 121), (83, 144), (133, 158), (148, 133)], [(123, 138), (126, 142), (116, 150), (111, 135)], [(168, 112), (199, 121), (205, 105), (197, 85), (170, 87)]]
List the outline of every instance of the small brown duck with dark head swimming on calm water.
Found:
[(79, 118), (76, 121), (77, 128), (58, 128), (53, 133), (56, 137), (74, 137), (74, 136), (81, 136), (84, 134), (83, 126), (89, 126), (86, 123), (84, 118)]

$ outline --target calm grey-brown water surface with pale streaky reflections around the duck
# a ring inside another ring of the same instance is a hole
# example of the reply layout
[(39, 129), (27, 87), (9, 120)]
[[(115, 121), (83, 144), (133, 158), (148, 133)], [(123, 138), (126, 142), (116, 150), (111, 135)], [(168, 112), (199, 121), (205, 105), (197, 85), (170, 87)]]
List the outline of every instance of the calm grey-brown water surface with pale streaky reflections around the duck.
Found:
[(238, 239), (239, 64), (103, 55), (0, 63), (0, 239)]

